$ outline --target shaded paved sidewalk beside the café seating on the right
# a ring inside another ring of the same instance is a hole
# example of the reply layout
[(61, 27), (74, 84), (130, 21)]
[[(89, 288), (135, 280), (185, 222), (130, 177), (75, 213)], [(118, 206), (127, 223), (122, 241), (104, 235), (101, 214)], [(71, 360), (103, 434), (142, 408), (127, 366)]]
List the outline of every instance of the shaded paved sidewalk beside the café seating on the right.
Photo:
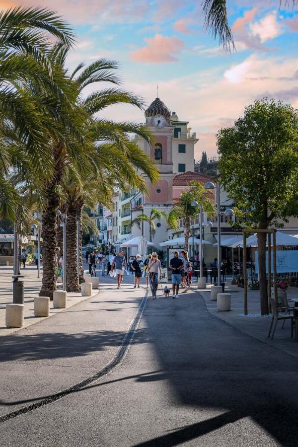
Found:
[[(226, 282), (226, 289), (231, 291), (231, 311), (219, 312), (217, 310), (217, 301), (210, 300), (210, 287), (211, 285), (207, 285), (207, 289), (198, 289), (201, 297), (205, 299), (207, 309), (210, 313), (251, 337), (260, 340), (262, 343), (267, 343), (274, 348), (298, 357), (298, 342), (295, 341), (295, 336), (291, 338), (290, 321), (286, 321), (284, 329), (282, 329), (283, 322), (279, 321), (274, 339), (271, 340), (267, 337), (271, 315), (270, 317), (252, 316), (252, 314), (260, 314), (260, 292), (258, 290), (247, 291), (248, 316), (242, 316), (244, 315), (244, 289), (232, 286), (230, 282)], [(288, 298), (297, 298), (298, 289), (289, 287), (287, 296)], [(294, 305), (293, 301), (292, 303)]]

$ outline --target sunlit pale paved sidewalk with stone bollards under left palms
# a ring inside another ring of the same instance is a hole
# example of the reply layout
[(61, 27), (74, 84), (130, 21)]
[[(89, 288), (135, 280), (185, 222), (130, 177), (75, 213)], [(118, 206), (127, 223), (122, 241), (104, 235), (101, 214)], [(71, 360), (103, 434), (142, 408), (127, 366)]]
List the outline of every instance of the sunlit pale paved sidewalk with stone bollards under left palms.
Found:
[[(31, 324), (38, 323), (49, 317), (35, 317), (34, 316), (34, 297), (37, 297), (41, 289), (42, 281), (42, 268), (40, 271), (41, 278), (37, 278), (37, 269), (35, 266), (26, 266), (26, 269), (21, 269), (20, 274), (24, 275), (24, 278), (20, 278), (20, 281), (24, 282), (24, 305), (25, 305), (25, 318), (24, 326), (30, 326)], [(6, 304), (12, 302), (12, 278), (13, 268), (0, 267), (0, 336), (9, 335), (22, 328), (8, 328), (5, 326), (5, 307)], [(101, 278), (99, 278), (99, 282)], [(57, 284), (58, 290), (62, 288), (62, 284)], [(92, 297), (97, 295), (99, 290), (92, 291)], [(80, 293), (68, 293), (66, 308), (72, 307), (74, 304), (84, 301), (90, 297), (82, 297)], [(53, 301), (50, 303), (50, 317), (62, 312), (65, 309), (54, 309)]]

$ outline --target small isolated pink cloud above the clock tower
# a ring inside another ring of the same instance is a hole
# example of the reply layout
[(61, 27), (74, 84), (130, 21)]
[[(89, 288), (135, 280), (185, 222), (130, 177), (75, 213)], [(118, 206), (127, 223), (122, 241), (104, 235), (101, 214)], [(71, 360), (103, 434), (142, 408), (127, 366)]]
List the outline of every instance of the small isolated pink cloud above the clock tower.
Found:
[(146, 39), (147, 46), (131, 53), (131, 58), (137, 62), (162, 64), (177, 61), (176, 55), (184, 47), (184, 42), (176, 37), (165, 37), (155, 34)]

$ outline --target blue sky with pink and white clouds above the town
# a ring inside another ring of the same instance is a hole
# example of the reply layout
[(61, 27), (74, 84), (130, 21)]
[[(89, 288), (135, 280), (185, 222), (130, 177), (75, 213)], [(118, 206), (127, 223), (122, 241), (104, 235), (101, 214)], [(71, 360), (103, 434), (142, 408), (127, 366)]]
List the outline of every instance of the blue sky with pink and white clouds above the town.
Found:
[[(2, 9), (21, 4), (59, 12), (77, 36), (70, 69), (100, 58), (118, 61), (122, 87), (147, 105), (158, 84), (159, 98), (197, 133), (196, 159), (203, 150), (216, 156), (218, 130), (232, 126), (255, 99), (298, 108), (298, 13), (285, 3), (227, 0), (236, 51), (226, 52), (204, 30), (201, 0), (0, 0)], [(143, 111), (128, 105), (112, 106), (105, 116), (145, 121)]]

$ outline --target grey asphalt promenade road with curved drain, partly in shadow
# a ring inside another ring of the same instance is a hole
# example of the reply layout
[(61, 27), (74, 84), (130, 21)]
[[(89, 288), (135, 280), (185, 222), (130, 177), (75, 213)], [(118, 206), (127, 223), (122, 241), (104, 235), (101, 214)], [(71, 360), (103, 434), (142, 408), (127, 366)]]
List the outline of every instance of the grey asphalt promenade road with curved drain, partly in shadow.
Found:
[[(115, 357), (146, 291), (114, 287), (3, 338), (0, 416), (100, 371)], [(120, 365), (61, 400), (1, 423), (0, 444), (298, 446), (297, 375), (298, 359), (211, 315), (197, 292), (148, 298)]]

